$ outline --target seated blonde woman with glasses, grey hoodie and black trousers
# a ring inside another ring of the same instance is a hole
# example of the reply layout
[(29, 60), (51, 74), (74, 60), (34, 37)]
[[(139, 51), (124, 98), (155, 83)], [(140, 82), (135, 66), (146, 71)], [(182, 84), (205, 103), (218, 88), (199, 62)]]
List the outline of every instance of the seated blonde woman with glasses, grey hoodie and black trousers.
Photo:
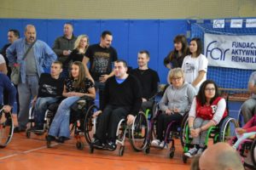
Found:
[(160, 100), (160, 115), (157, 117), (156, 136), (151, 145), (164, 147), (164, 131), (170, 122), (180, 124), (185, 112), (188, 112), (195, 97), (195, 88), (184, 81), (181, 68), (169, 71), (170, 86)]

